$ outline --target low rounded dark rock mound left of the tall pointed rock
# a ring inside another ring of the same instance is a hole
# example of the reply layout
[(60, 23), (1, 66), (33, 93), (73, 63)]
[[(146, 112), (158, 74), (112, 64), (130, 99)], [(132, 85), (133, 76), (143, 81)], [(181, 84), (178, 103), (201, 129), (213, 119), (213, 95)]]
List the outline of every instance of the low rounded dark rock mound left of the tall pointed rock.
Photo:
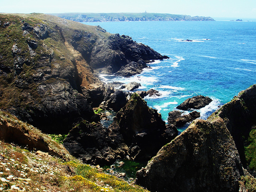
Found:
[(112, 164), (127, 155), (119, 128), (80, 122), (64, 140), (63, 145), (75, 157), (88, 164)]

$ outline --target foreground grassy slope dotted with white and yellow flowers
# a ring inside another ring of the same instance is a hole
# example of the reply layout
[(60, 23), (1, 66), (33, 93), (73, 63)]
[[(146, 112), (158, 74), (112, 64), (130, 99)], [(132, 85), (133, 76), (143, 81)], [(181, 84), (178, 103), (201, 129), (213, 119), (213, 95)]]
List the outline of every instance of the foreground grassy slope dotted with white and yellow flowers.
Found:
[(70, 156), (61, 144), (51, 140), (50, 136), (0, 111), (0, 128), (4, 122), (8, 122), (9, 126), (30, 130), (30, 134), (43, 136), (52, 148), (64, 152), (69, 160), (28, 151), (0, 140), (0, 191), (147, 192), (95, 167), (82, 164)]

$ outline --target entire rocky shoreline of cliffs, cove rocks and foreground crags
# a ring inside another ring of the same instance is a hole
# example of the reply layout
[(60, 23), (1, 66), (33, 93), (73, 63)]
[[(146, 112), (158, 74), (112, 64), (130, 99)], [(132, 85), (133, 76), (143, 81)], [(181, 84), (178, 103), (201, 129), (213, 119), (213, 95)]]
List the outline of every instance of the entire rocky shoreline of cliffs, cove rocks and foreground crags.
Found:
[[(68, 133), (64, 146), (85, 163), (149, 160), (136, 183), (151, 191), (250, 191), (242, 180), (256, 171), (256, 85), (208, 120), (194, 119), (211, 99), (192, 97), (170, 112), (165, 124), (142, 99), (159, 96), (157, 90), (130, 93), (140, 84), (104, 84), (97, 75), (128, 77), (167, 56), (100, 26), (44, 14), (0, 14), (0, 28), (1, 110), (42, 132)], [(102, 126), (96, 109), (114, 110), (110, 126)], [(192, 112), (182, 115), (183, 110)], [(177, 127), (191, 121), (178, 136)], [(44, 138), (28, 136), (32, 133), (22, 126), (15, 132), (6, 120), (0, 127), (2, 139), (54, 154)]]

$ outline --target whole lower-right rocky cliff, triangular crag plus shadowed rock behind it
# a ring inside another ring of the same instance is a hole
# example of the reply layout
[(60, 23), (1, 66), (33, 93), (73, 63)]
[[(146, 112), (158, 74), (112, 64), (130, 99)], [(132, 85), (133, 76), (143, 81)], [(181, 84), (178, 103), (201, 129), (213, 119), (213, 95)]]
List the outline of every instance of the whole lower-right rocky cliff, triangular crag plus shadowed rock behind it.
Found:
[(136, 183), (157, 192), (254, 191), (244, 187), (251, 176), (243, 169), (255, 171), (255, 96), (253, 85), (208, 120), (192, 122), (137, 172)]

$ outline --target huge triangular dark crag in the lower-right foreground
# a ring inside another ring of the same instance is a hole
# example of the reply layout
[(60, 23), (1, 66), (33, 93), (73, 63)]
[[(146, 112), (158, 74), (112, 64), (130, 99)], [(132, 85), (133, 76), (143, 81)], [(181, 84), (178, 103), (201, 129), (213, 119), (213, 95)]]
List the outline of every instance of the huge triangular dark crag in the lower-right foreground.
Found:
[(136, 173), (136, 184), (157, 192), (238, 192), (242, 175), (223, 120), (195, 120)]

